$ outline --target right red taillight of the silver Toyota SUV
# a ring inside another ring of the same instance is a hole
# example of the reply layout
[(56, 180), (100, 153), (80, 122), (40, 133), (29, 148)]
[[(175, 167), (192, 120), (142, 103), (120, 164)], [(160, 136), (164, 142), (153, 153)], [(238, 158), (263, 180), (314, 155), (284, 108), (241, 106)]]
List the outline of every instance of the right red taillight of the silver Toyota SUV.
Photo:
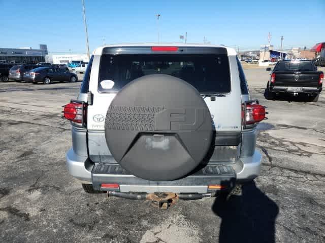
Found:
[(246, 103), (242, 106), (242, 123), (244, 128), (246, 125), (258, 123), (261, 120), (266, 119), (265, 106), (259, 105), (258, 102)]

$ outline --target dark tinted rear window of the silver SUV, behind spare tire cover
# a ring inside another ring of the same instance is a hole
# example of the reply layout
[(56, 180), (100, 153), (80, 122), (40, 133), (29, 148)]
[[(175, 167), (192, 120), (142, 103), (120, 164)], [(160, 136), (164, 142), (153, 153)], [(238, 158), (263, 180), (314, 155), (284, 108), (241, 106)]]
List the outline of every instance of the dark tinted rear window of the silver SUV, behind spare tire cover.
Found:
[[(118, 92), (132, 80), (156, 73), (181, 78), (200, 93), (231, 91), (229, 61), (224, 54), (104, 54), (99, 90)], [(112, 87), (102, 87), (103, 80), (113, 81)]]

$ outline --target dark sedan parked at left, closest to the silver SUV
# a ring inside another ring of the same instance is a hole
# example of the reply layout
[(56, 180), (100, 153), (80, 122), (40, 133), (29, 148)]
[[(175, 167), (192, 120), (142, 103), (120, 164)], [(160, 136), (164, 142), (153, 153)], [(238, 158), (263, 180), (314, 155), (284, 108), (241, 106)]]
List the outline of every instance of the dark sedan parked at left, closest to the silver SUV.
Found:
[(58, 67), (38, 67), (26, 72), (24, 74), (24, 80), (33, 84), (42, 82), (45, 85), (49, 85), (53, 82), (64, 81), (74, 83), (77, 82), (78, 76)]

